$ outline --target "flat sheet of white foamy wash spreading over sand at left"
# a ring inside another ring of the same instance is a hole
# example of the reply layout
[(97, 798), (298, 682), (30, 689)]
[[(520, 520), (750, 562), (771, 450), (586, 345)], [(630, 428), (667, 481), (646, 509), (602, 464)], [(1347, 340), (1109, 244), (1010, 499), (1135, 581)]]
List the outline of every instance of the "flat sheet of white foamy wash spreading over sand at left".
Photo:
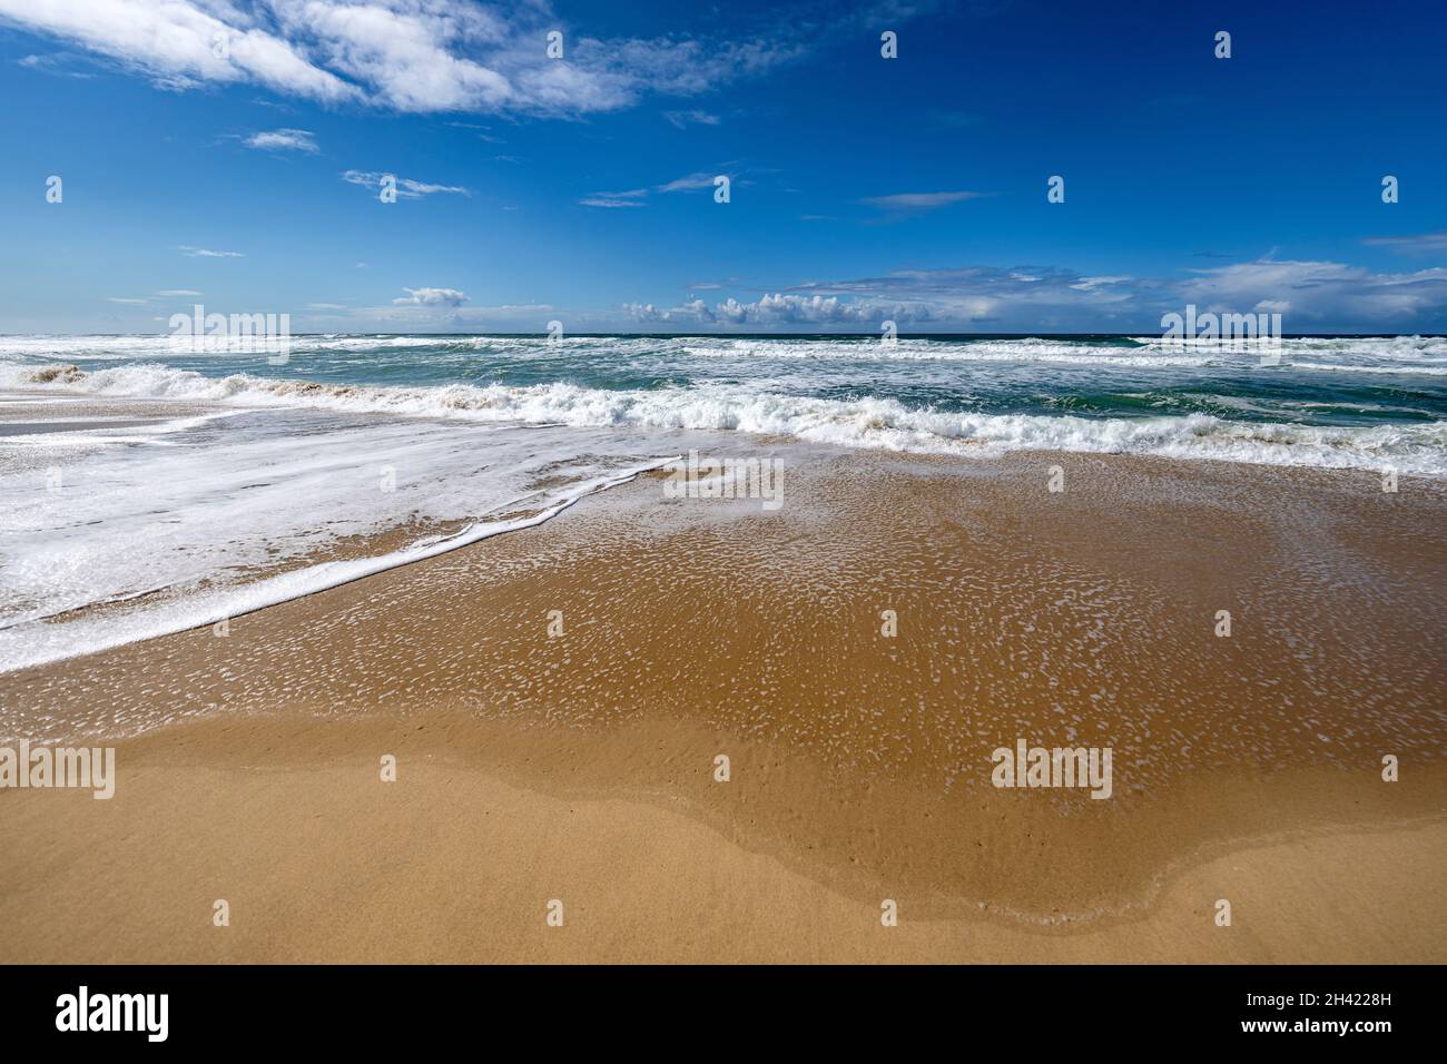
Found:
[(0, 670), (530, 527), (671, 457), (606, 439), (580, 455), (559, 430), (223, 413), (6, 440), (29, 462), (0, 475)]

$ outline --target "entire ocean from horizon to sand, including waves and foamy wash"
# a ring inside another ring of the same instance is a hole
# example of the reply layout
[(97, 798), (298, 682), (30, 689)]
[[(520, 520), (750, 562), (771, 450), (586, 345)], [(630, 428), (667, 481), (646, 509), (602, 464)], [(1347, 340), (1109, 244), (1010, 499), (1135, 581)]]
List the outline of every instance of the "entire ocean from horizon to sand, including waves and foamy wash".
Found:
[(535, 524), (697, 449), (1156, 455), (1447, 475), (1447, 339), (0, 337), (0, 672)]

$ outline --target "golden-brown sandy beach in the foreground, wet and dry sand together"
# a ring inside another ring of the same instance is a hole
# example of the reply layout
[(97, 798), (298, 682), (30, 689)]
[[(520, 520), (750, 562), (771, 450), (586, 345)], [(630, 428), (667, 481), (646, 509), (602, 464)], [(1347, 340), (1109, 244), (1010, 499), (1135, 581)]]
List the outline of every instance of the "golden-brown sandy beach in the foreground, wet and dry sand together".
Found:
[[(803, 450), (784, 486), (641, 478), (0, 676), (0, 735), (119, 747), (110, 802), (0, 792), (0, 958), (1447, 960), (1440, 486)], [(1111, 798), (994, 788), (1019, 738), (1110, 747)]]

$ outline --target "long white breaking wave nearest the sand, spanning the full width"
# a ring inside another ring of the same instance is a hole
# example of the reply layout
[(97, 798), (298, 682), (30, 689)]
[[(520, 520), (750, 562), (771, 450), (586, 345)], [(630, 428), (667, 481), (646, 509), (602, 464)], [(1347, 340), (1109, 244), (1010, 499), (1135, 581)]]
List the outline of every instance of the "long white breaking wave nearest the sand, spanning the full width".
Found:
[(1327, 427), (1233, 421), (1214, 414), (1077, 417), (942, 411), (896, 398), (851, 400), (761, 392), (755, 384), (609, 389), (537, 385), (434, 387), (324, 384), (250, 373), (204, 376), (159, 363), (84, 371), (0, 363), (0, 385), (97, 395), (297, 407), (498, 424), (735, 430), (848, 447), (998, 455), (1066, 450), (1159, 455), (1281, 466), (1396, 469), (1447, 475), (1447, 421)]

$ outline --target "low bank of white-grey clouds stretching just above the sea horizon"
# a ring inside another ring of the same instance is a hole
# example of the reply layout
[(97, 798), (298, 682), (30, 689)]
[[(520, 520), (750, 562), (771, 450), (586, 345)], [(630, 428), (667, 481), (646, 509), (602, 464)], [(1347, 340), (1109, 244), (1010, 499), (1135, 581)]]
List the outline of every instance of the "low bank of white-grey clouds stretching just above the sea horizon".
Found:
[[(404, 288), (404, 295), (388, 305), (311, 303), (304, 308), (344, 318), (355, 329), (436, 332), (538, 332), (556, 317), (567, 323), (569, 332), (874, 333), (893, 320), (910, 332), (1152, 336), (1160, 330), (1162, 314), (1182, 313), (1194, 304), (1202, 314), (1281, 313), (1286, 333), (1447, 332), (1443, 266), (1393, 272), (1340, 262), (1257, 259), (1172, 276), (1097, 275), (1061, 266), (961, 266), (752, 290), (737, 281), (695, 282), (687, 288), (690, 295), (677, 304), (631, 301), (598, 308), (543, 301), (475, 307), (460, 288), (423, 285)], [(729, 290), (732, 294), (725, 295)], [(705, 298), (710, 294), (712, 300)], [(174, 288), (107, 301), (139, 308), (198, 295)]]

